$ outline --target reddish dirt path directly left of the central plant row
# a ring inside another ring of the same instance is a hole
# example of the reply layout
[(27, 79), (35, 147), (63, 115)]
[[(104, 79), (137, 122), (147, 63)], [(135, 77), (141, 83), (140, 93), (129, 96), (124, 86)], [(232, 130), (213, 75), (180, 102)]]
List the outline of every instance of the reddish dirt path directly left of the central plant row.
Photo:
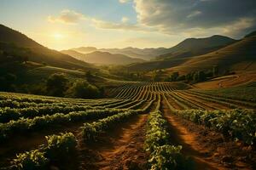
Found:
[(138, 115), (103, 134), (96, 143), (81, 144), (84, 149), (79, 169), (145, 169), (147, 156), (143, 143), (147, 117)]

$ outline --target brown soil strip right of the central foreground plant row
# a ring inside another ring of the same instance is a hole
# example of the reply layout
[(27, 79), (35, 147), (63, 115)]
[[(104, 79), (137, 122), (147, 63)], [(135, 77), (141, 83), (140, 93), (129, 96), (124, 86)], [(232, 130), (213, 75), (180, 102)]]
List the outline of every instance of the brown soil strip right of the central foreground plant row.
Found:
[(166, 101), (162, 111), (170, 124), (172, 143), (183, 145), (183, 155), (195, 160), (195, 169), (253, 169), (255, 154), (250, 147), (170, 114)]

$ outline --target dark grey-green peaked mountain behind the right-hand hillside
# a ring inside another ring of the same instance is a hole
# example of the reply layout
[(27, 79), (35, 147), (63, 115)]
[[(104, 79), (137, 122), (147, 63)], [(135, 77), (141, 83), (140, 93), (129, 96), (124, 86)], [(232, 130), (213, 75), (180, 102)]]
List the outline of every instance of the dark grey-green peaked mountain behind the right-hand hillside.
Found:
[(156, 59), (172, 59), (207, 54), (233, 42), (236, 42), (236, 40), (218, 35), (205, 38), (188, 38), (176, 46), (169, 48), (167, 54), (160, 55)]

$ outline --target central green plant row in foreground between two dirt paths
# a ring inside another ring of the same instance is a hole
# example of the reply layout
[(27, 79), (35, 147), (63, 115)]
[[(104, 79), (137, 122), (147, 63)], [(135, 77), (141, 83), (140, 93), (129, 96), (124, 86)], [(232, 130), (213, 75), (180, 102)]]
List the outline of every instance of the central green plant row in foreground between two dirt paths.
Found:
[(189, 161), (181, 154), (181, 145), (169, 144), (166, 120), (160, 111), (148, 116), (144, 148), (149, 154), (148, 169), (192, 169)]

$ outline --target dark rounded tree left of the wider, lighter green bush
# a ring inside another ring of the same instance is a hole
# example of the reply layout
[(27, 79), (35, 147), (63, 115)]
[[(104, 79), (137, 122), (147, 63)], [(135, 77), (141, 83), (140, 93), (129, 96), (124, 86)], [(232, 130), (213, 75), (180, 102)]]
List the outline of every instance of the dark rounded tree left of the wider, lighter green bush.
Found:
[(49, 76), (46, 82), (47, 94), (53, 96), (64, 96), (65, 91), (67, 90), (68, 79), (64, 74), (52, 74)]

